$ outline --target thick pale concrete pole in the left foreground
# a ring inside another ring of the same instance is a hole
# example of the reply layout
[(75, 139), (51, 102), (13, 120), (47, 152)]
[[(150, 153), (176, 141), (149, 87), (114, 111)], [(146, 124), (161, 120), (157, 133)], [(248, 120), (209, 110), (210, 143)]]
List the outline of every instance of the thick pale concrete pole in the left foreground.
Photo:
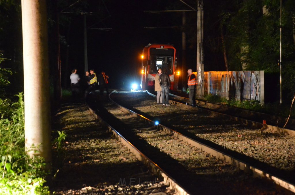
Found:
[[(22, 0), (25, 148), (30, 156), (40, 155), (46, 162), (50, 162), (51, 126), (46, 12), (45, 0)], [(32, 145), (35, 148), (32, 148)]]

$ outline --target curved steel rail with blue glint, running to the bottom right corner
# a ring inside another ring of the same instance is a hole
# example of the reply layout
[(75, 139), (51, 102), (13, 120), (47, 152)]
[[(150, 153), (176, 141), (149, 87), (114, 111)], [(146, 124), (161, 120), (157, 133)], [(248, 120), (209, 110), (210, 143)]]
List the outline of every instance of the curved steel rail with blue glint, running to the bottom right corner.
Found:
[[(125, 108), (124, 106), (122, 105), (119, 105), (118, 103), (114, 102), (114, 100), (112, 100), (112, 98), (110, 97), (111, 94), (113, 94), (114, 92), (116, 92), (117, 90), (114, 90), (112, 91), (112, 93), (109, 94), (109, 98), (110, 100), (116, 104), (117, 106), (119, 106), (122, 110), (125, 110), (126, 112), (128, 113), (131, 113), (132, 115), (134, 116), (137, 116), (139, 118), (142, 118), (142, 119), (145, 119), (147, 120), (148, 122), (152, 123), (152, 124), (155, 124), (155, 121), (153, 120), (150, 120), (148, 119), (147, 117), (141, 115), (141, 114), (138, 114), (128, 108)], [(147, 91), (148, 92), (148, 91)], [(148, 92), (150, 94), (150, 92)], [(154, 94), (150, 94), (150, 95), (153, 95), (155, 96)], [(171, 100), (169, 100), (171, 101)], [(179, 102), (178, 102), (179, 103)], [(180, 103), (182, 105), (184, 105), (183, 103)], [(186, 105), (186, 106), (189, 106), (189, 105)], [(196, 107), (197, 108), (197, 107)], [(197, 108), (198, 109), (198, 108)], [(200, 108), (201, 109), (201, 108)], [(214, 112), (214, 111), (211, 111), (211, 112)], [(220, 115), (225, 115), (225, 114), (222, 114), (222, 113), (217, 113), (217, 114), (220, 114)], [(233, 117), (233, 118), (237, 118), (237, 117)], [(243, 119), (245, 120), (245, 119)], [(253, 121), (251, 121), (253, 122)], [(254, 123), (257, 123), (257, 122), (254, 122)], [(226, 154), (218, 149), (215, 149), (211, 146), (208, 146), (207, 144), (205, 143), (201, 143), (200, 141), (196, 141), (192, 138), (189, 138), (187, 137), (186, 135), (183, 135), (179, 132), (177, 132), (176, 130), (173, 130), (171, 128), (168, 128), (164, 125), (161, 125), (161, 124), (158, 124), (158, 127), (166, 132), (169, 132), (169, 133), (173, 133), (173, 136), (184, 141), (184, 142), (187, 142), (188, 144), (192, 145), (192, 146), (195, 146), (196, 148), (199, 148), (209, 154), (211, 154), (212, 156), (215, 156), (216, 158), (219, 158), (227, 163), (231, 163), (232, 165), (240, 168), (241, 170), (245, 171), (245, 172), (252, 172), (253, 173), (253, 176), (254, 177), (261, 177), (261, 178), (267, 178), (267, 179), (270, 179), (272, 180), (274, 183), (276, 183), (277, 185), (279, 186), (282, 186), (283, 188), (285, 189), (288, 189), (289, 191), (292, 191), (295, 193), (295, 184), (291, 183), (291, 182), (288, 182), (276, 175), (274, 175), (273, 173), (270, 173), (268, 171), (265, 171), (263, 170), (262, 168), (258, 168), (256, 166), (252, 166), (250, 165), (249, 163), (246, 163), (245, 161), (243, 160), (240, 160), (238, 158), (235, 158), (229, 154)]]

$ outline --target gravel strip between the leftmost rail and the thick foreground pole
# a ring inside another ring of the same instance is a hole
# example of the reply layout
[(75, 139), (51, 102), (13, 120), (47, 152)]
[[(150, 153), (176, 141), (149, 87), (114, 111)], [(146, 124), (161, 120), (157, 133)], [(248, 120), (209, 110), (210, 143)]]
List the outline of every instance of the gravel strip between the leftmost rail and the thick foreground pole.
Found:
[(54, 119), (53, 134), (67, 135), (53, 155), (55, 194), (173, 194), (86, 105), (62, 105)]

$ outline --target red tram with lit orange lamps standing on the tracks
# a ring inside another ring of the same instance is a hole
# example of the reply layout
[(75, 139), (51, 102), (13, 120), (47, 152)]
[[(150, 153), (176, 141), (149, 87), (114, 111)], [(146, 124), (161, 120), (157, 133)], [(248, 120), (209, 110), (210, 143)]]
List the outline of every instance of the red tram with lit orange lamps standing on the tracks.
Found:
[(141, 83), (142, 90), (154, 90), (155, 75), (158, 69), (167, 68), (171, 82), (171, 90), (177, 90), (178, 77), (176, 72), (176, 49), (170, 44), (148, 44), (142, 51)]

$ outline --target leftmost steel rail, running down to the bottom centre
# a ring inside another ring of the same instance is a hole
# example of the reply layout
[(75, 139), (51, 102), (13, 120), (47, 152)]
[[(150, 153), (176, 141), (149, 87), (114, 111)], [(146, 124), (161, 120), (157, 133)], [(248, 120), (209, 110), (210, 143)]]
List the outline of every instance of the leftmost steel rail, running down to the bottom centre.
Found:
[[(109, 96), (113, 93), (112, 91)], [(115, 102), (114, 102), (115, 103)], [(177, 194), (180, 195), (188, 195), (191, 194), (187, 190), (185, 190), (178, 182), (175, 181), (170, 175), (168, 175), (162, 168), (160, 168), (156, 163), (154, 163), (150, 158), (145, 156), (140, 150), (138, 150), (130, 141), (125, 139), (118, 131), (116, 131), (111, 125), (106, 123), (99, 115), (96, 114), (94, 110), (90, 108), (90, 106), (85, 103), (88, 107), (89, 113), (100, 123), (106, 125), (109, 128), (109, 131), (113, 133), (113, 135), (124, 145), (126, 146), (135, 156), (138, 160), (140, 160), (145, 166), (147, 166), (150, 171), (152, 171), (155, 175), (162, 177), (164, 179), (164, 183), (166, 185), (169, 185), (169, 188), (176, 191)], [(118, 105), (117, 103), (115, 103)], [(145, 120), (149, 120), (148, 118), (145, 118), (144, 116), (141, 116)]]

